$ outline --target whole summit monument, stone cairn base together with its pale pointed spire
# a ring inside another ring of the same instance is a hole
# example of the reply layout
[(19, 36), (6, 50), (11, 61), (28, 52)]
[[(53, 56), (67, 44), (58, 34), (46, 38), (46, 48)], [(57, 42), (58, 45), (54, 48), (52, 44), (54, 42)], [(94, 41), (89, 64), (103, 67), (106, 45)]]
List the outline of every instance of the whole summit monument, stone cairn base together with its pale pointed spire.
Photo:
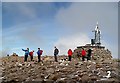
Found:
[(78, 46), (77, 49), (74, 50), (74, 57), (77, 57), (78, 55), (81, 56), (81, 50), (82, 48), (84, 48), (86, 51), (90, 48), (92, 49), (92, 60), (111, 60), (112, 59), (112, 55), (111, 55), (111, 51), (109, 51), (108, 49), (105, 48), (105, 46), (101, 45), (101, 31), (99, 29), (98, 26), (98, 22), (97, 25), (95, 27), (95, 30), (93, 30), (92, 32), (95, 32), (94, 35), (94, 39), (91, 39), (91, 44), (86, 44), (84, 46)]

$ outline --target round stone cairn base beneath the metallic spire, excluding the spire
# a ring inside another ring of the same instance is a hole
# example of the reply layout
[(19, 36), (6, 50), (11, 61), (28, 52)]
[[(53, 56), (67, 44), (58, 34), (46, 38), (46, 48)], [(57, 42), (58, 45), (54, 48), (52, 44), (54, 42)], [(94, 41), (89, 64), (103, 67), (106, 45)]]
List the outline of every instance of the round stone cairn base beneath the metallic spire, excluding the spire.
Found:
[(105, 49), (104, 46), (91, 46), (86, 44), (85, 46), (79, 46), (77, 49), (74, 50), (73, 56), (77, 58), (78, 56), (81, 56), (81, 50), (84, 48), (87, 52), (87, 50), (90, 48), (92, 50), (92, 59), (93, 60), (111, 60), (112, 55), (111, 51), (108, 49)]

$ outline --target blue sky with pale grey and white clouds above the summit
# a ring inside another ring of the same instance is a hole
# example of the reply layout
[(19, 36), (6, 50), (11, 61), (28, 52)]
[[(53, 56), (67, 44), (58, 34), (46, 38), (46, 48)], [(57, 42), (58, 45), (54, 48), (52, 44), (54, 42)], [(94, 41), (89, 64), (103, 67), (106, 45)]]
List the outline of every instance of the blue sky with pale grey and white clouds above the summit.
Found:
[(102, 45), (117, 58), (117, 2), (2, 2), (2, 55), (27, 47), (53, 55), (54, 46), (67, 54), (90, 43), (97, 21)]

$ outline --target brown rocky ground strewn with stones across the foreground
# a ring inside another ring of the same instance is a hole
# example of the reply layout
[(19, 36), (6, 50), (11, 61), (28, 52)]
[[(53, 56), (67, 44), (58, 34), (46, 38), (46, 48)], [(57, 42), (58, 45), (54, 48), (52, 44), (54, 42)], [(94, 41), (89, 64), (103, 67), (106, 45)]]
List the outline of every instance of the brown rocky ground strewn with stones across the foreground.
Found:
[(2, 83), (120, 83), (120, 64), (118, 60), (81, 61), (78, 58), (67, 60), (67, 56), (44, 56), (43, 62), (23, 62), (23, 57), (1, 58)]

